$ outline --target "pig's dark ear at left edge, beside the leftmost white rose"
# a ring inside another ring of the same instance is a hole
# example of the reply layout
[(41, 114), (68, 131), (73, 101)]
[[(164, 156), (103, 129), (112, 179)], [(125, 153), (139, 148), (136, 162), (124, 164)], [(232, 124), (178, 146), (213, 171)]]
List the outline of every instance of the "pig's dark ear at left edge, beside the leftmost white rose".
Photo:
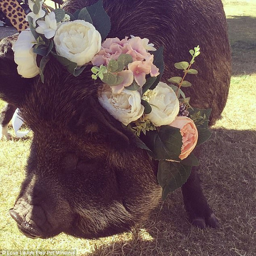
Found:
[(0, 41), (0, 99), (19, 106), (30, 90), (32, 79), (22, 78), (17, 73), (12, 51), (17, 36), (15, 34)]

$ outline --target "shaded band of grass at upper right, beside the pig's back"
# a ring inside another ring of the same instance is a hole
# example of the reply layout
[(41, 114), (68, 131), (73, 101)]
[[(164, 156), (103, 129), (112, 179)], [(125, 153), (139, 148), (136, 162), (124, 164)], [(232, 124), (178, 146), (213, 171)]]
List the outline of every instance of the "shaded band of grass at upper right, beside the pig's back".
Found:
[(256, 73), (256, 17), (228, 16), (233, 75)]

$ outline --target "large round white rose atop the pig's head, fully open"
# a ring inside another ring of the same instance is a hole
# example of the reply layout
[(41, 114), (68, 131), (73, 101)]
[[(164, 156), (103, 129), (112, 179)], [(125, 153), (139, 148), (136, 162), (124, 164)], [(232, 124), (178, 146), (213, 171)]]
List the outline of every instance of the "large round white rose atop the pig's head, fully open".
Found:
[(58, 55), (82, 66), (91, 61), (101, 49), (101, 35), (84, 20), (61, 23), (54, 37)]

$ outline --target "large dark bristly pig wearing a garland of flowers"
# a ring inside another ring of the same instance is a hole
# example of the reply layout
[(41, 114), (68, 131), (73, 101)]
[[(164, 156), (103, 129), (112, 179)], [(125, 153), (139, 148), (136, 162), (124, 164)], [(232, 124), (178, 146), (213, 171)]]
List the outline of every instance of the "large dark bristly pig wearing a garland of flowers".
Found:
[[(95, 2), (67, 0), (63, 8), (73, 13)], [(188, 60), (188, 50), (200, 45), (195, 64), (200, 72), (190, 79), (193, 86), (186, 95), (193, 106), (212, 108), (214, 123), (230, 83), (221, 0), (104, 0), (103, 5), (111, 18), (109, 38), (136, 35), (164, 46), (163, 81), (177, 74), (175, 62)], [(161, 198), (157, 163), (99, 105), (90, 67), (74, 77), (51, 59), (41, 84), (39, 77), (17, 77), (13, 53), (6, 52), (0, 58), (0, 95), (20, 108), (34, 131), (26, 179), (10, 210), (20, 231), (31, 238), (60, 232), (97, 238), (129, 230), (147, 218)], [(216, 227), (195, 169), (182, 192), (190, 221)]]

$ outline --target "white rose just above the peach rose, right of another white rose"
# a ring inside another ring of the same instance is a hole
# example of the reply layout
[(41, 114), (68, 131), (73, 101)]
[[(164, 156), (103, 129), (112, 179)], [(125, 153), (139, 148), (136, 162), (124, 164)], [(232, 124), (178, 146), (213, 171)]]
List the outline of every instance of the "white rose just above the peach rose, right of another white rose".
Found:
[(179, 100), (175, 92), (166, 83), (159, 82), (152, 90), (148, 103), (152, 111), (148, 119), (155, 125), (169, 125), (179, 113)]

